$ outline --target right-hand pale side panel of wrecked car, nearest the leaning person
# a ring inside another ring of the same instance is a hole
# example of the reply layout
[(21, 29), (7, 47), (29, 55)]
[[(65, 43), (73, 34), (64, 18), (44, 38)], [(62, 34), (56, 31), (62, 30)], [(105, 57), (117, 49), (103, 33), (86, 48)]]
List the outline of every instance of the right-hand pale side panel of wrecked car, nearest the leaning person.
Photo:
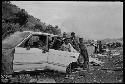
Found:
[(77, 61), (78, 55), (79, 53), (49, 49), (48, 66), (50, 69), (65, 73), (67, 66)]

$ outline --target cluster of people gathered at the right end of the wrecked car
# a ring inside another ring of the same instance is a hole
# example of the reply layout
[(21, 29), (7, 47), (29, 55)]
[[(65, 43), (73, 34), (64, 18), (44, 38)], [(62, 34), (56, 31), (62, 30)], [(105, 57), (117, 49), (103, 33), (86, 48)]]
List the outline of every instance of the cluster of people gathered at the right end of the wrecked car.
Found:
[[(56, 45), (54, 45), (55, 49), (60, 49), (63, 51), (69, 51), (69, 52), (79, 52), (80, 57), (78, 59), (78, 63), (80, 66), (83, 67), (83, 69), (89, 68), (89, 57), (87, 48), (84, 45), (83, 38), (79, 38), (79, 40), (76, 39), (75, 33), (71, 33), (71, 37), (68, 37), (67, 34), (64, 32), (62, 38), (57, 39)], [(81, 63), (83, 62), (83, 63)]]

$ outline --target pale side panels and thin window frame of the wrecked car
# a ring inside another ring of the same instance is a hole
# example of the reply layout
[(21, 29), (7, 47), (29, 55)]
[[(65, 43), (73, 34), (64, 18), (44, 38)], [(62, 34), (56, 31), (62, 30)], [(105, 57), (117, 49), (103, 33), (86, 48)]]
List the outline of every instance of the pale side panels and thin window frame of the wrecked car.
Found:
[(44, 35), (47, 38), (48, 36), (54, 36), (41, 32), (26, 32), (30, 32), (30, 35), (15, 47), (13, 61), (14, 72), (51, 69), (65, 73), (68, 65), (77, 61), (79, 56), (78, 52), (49, 49), (48, 52), (43, 53), (43, 50), (39, 48), (30, 48), (30, 50), (27, 50), (26, 48), (20, 47), (32, 35)]

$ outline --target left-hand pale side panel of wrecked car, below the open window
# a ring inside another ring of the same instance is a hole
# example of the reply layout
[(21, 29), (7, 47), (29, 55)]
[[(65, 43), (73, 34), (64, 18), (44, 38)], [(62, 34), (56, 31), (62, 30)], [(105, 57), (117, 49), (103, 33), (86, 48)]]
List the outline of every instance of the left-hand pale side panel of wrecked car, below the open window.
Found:
[(43, 52), (42, 49), (36, 47), (37, 45), (32, 45), (30, 49), (22, 45), (15, 48), (14, 71), (45, 69), (48, 52)]

